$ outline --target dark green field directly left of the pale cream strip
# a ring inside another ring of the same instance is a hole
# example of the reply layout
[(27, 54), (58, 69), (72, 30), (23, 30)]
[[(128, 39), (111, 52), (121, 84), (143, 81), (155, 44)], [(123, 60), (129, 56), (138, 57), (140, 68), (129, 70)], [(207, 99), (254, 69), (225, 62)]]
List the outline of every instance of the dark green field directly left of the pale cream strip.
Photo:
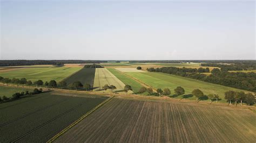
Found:
[(69, 85), (73, 82), (80, 81), (83, 85), (85, 83), (93, 86), (93, 81), (95, 78), (95, 68), (82, 68), (77, 73), (64, 79), (64, 81)]

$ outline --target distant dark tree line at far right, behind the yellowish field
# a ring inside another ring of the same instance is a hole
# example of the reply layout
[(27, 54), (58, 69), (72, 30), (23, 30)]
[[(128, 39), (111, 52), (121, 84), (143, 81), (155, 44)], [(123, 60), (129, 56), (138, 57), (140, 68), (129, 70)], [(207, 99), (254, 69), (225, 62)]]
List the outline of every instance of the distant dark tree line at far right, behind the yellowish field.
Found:
[(218, 64), (218, 63), (201, 63), (201, 66), (219, 67), (221, 71), (256, 69), (256, 63), (246, 63), (246, 64), (245, 63), (235, 63), (235, 64), (231, 64), (231, 65)]

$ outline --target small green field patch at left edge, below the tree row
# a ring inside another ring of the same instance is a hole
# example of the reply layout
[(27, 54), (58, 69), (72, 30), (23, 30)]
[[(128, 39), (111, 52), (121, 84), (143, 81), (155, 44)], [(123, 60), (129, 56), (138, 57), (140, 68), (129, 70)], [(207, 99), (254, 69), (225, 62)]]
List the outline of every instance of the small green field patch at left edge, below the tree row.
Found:
[(16, 92), (32, 91), (33, 89), (25, 89), (19, 87), (0, 86), (0, 96), (12, 97)]

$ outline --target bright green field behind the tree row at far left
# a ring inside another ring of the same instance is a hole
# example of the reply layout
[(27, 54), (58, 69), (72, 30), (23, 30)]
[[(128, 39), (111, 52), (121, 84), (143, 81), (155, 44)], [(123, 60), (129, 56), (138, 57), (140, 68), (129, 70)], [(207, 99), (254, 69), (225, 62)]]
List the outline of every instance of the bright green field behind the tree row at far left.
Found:
[(61, 81), (65, 77), (75, 73), (80, 67), (49, 67), (49, 68), (25, 68), (0, 73), (0, 76), (9, 78), (26, 78), (27, 80)]

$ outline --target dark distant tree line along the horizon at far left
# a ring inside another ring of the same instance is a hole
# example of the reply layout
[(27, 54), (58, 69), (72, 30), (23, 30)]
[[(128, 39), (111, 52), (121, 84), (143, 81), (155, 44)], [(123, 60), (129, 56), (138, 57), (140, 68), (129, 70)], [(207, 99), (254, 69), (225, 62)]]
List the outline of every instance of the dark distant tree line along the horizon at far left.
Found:
[(100, 63), (98, 60), (0, 60), (0, 66), (55, 65), (57, 63)]

